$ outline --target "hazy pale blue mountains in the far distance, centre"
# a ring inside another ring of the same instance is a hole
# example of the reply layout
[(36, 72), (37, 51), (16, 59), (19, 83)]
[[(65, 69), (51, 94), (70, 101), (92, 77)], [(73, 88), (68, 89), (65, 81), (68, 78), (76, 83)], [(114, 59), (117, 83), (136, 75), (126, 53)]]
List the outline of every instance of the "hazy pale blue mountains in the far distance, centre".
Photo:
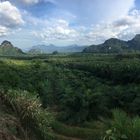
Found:
[(36, 45), (33, 46), (28, 53), (30, 54), (41, 54), (41, 53), (53, 53), (54, 51), (60, 53), (72, 53), (72, 52), (81, 52), (85, 46), (78, 46), (78, 45), (70, 45), (70, 46), (63, 46), (58, 47), (53, 44), (50, 45)]

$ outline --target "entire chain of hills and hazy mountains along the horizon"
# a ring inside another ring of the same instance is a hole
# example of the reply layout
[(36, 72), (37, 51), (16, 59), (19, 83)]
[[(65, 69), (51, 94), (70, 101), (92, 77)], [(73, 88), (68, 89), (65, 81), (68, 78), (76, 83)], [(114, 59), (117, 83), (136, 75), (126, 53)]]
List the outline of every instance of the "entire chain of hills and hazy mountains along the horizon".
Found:
[[(45, 53), (127, 53), (140, 51), (140, 34), (136, 35), (133, 39), (123, 41), (116, 38), (110, 38), (104, 43), (91, 46), (78, 46), (70, 45), (58, 47), (53, 44), (50, 45), (36, 45), (33, 46), (27, 53), (28, 54), (45, 54)], [(23, 55), (25, 54), (21, 49), (14, 47), (11, 42), (5, 40), (0, 45), (0, 55)]]

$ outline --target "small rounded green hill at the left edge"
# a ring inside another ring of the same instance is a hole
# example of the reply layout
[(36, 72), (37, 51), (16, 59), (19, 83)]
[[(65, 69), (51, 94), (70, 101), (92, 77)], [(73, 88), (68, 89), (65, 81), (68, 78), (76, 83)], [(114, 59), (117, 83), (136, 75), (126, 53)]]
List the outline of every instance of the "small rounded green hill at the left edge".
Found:
[(5, 40), (0, 45), (0, 55), (22, 55), (24, 54), (21, 49), (14, 47), (11, 42)]

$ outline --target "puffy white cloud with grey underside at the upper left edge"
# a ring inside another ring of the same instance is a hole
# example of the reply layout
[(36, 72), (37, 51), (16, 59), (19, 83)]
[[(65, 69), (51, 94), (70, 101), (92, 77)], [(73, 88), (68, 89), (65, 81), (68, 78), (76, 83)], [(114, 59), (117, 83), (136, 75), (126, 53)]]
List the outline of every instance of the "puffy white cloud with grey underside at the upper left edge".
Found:
[(0, 2), (0, 36), (24, 23), (20, 11), (9, 1)]

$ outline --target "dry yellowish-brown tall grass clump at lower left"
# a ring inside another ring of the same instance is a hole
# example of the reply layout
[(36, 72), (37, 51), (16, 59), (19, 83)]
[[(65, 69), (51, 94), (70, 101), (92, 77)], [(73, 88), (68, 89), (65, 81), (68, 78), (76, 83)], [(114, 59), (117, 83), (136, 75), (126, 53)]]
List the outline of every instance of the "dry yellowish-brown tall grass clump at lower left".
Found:
[(1, 90), (1, 98), (20, 118), (25, 129), (36, 132), (40, 139), (47, 139), (53, 118), (47, 110), (41, 108), (35, 95), (26, 91), (9, 90), (5, 93)]

